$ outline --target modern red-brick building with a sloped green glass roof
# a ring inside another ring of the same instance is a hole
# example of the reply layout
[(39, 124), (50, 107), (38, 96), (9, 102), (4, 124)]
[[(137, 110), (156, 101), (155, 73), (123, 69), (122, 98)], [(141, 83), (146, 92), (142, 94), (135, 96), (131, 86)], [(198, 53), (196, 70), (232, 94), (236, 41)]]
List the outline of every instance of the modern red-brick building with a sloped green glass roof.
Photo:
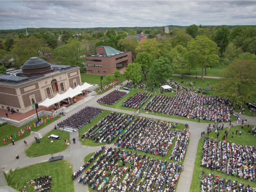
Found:
[(110, 46), (97, 46), (96, 52), (86, 56), (89, 74), (112, 74), (114, 69), (125, 68), (132, 63), (131, 51), (118, 51)]

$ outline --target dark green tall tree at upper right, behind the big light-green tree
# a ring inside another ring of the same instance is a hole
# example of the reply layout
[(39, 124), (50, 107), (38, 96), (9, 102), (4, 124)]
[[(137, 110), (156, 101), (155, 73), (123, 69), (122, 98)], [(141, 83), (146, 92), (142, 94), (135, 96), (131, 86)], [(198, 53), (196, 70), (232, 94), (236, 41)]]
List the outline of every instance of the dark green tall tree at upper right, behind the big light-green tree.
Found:
[(229, 44), (229, 27), (222, 25), (217, 29), (217, 33), (214, 38), (214, 42), (217, 43), (220, 50), (222, 50), (222, 59), (224, 56), (224, 51), (227, 45)]

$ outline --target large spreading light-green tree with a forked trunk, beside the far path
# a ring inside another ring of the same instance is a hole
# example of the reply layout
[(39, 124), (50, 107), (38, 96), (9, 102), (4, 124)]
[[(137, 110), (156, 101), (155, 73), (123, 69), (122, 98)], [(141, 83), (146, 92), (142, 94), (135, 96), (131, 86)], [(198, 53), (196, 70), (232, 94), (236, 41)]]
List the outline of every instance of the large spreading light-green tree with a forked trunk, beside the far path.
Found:
[(207, 75), (206, 66), (209, 66), (211, 63), (219, 63), (218, 49), (217, 44), (204, 35), (197, 36), (188, 43), (189, 54), (202, 67), (202, 79), (204, 68), (205, 75)]

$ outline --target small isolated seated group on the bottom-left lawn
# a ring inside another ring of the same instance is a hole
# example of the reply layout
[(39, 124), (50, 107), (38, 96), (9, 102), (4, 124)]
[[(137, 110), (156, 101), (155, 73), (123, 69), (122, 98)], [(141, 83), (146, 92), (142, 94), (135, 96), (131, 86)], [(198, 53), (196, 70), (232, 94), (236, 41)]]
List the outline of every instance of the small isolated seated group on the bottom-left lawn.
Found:
[[(48, 192), (50, 191), (50, 188), (52, 187), (52, 178), (51, 176), (41, 176), (37, 177), (34, 180), (30, 180), (27, 182), (28, 185), (34, 185), (35, 191), (41, 191), (41, 192)], [(22, 192), (27, 191), (27, 187), (23, 186)]]

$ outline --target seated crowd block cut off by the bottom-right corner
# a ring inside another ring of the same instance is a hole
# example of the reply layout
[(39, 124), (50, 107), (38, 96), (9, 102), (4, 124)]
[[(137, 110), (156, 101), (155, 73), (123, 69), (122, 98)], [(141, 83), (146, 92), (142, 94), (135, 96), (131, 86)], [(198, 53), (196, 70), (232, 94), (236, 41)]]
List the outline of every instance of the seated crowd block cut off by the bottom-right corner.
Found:
[(256, 188), (252, 188), (250, 185), (245, 186), (244, 183), (238, 184), (237, 181), (225, 180), (225, 178), (219, 178), (219, 175), (215, 176), (210, 173), (208, 176), (203, 174), (199, 178), (200, 183), (200, 192), (255, 192)]

